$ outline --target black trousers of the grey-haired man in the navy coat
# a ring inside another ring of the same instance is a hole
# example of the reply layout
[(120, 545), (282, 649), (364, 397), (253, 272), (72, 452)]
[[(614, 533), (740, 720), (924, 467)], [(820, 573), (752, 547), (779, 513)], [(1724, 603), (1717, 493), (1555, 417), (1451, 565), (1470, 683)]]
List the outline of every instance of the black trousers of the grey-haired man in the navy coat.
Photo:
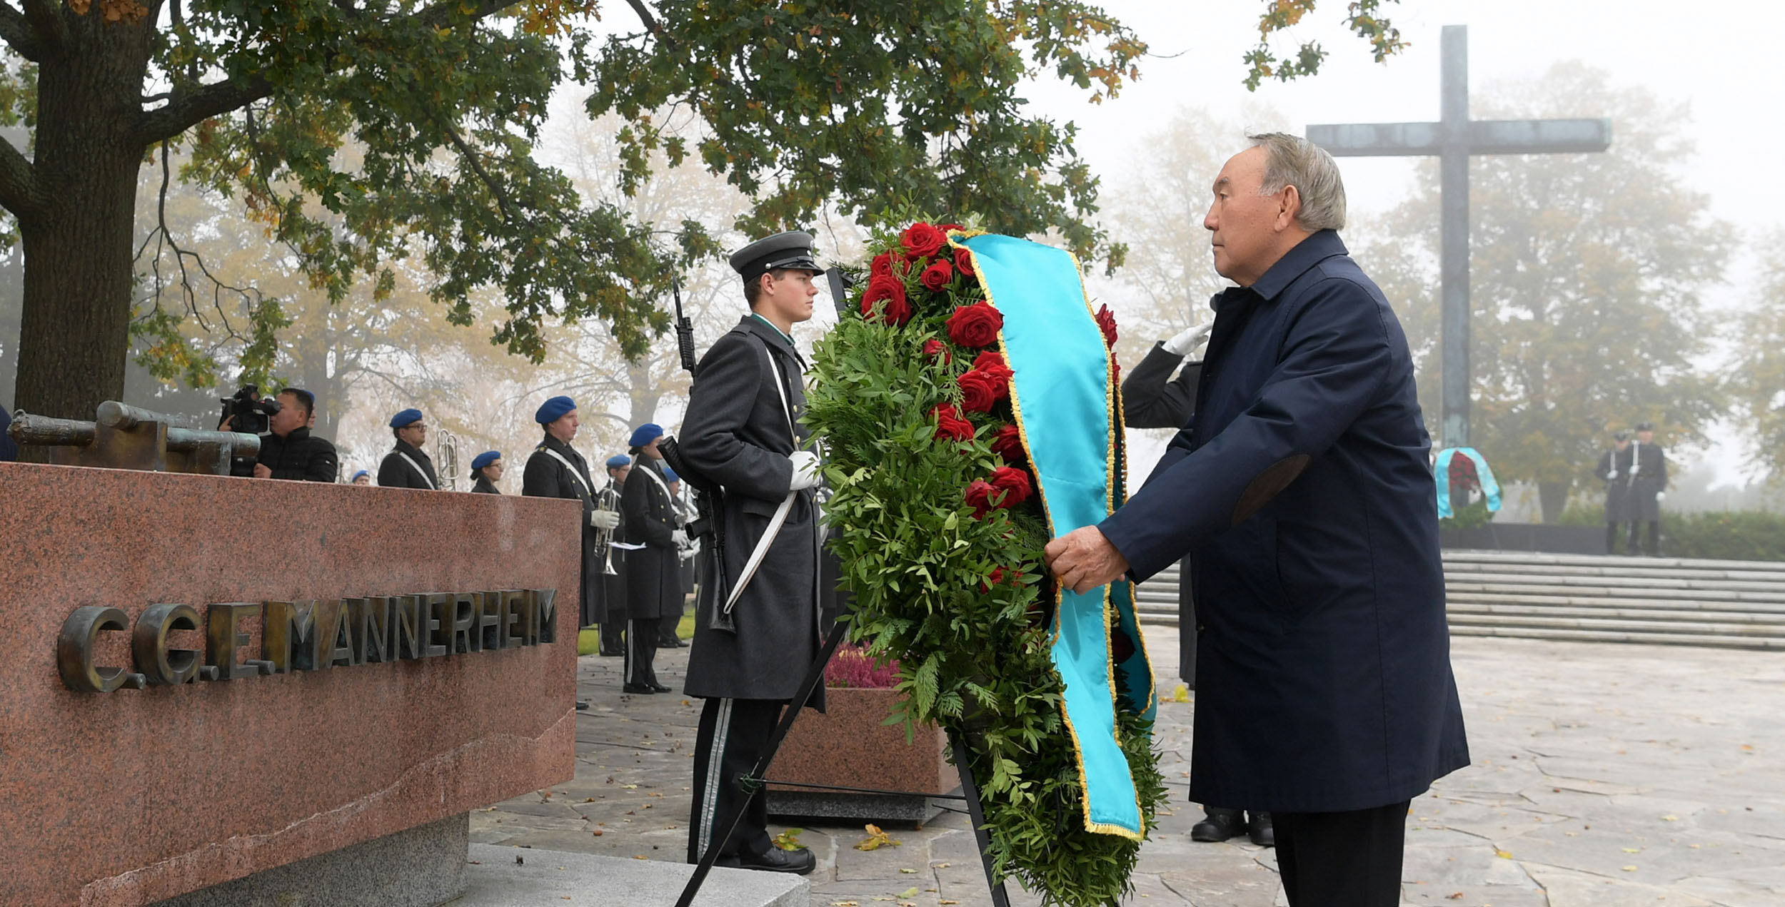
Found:
[(1273, 812), (1291, 907), (1396, 907), (1407, 800), (1351, 812)]

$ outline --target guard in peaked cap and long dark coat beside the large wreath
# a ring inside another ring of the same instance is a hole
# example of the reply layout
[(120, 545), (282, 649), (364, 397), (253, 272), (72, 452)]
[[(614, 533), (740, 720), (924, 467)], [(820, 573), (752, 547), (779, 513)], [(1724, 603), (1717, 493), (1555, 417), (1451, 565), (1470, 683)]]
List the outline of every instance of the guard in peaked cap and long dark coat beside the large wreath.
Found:
[[(689, 652), (689, 696), (705, 702), (694, 745), (694, 807), (689, 821), (689, 862), (719, 848), (719, 866), (809, 873), (805, 848), (778, 850), (769, 843), (768, 805), (751, 798), (730, 837), (716, 827), (744, 800), (739, 775), (768, 748), (775, 721), (798, 693), (800, 680), (819, 650), (818, 596), (818, 457), (800, 450), (809, 434), (805, 361), (794, 350), (793, 325), (812, 318), (819, 273), (812, 237), (785, 232), (744, 246), (732, 255), (750, 305), (737, 327), (718, 339), (694, 370), (694, 387), (682, 420), (680, 452), (687, 471), (725, 487), (723, 582), (703, 573)], [(785, 503), (780, 528), (769, 532)], [(762, 548), (759, 570), (744, 582), (744, 564)], [(710, 627), (714, 609), (735, 595), (730, 616), (735, 632)], [(823, 689), (812, 705), (823, 709)]]

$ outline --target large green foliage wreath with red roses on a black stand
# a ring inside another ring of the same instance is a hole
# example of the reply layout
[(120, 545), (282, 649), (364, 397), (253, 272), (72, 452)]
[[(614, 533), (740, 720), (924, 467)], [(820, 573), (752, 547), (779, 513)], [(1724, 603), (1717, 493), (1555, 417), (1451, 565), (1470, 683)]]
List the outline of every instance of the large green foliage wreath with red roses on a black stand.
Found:
[[(903, 705), (887, 723), (903, 721), (907, 736), (916, 723), (964, 732), (967, 752), (953, 759), (980, 786), (994, 875), (1048, 903), (1116, 903), (1166, 800), (1150, 693), (1133, 693), (1151, 677), (1130, 677), (1144, 673), (1130, 661), (1141, 646), (1132, 614), (1107, 618), (1114, 689), (1130, 693), (1114, 736), (1141, 816), (1135, 834), (1108, 834), (1091, 827), (1064, 718), (1048, 512), (1012, 405), (1003, 312), (966, 246), (973, 236), (930, 223), (875, 234), (848, 311), (814, 350), (805, 421), (826, 448), (830, 545), (855, 595), (850, 639), (900, 664)], [(1114, 345), (1108, 311), (1096, 321)], [(1119, 502), (1121, 470), (1112, 473)]]

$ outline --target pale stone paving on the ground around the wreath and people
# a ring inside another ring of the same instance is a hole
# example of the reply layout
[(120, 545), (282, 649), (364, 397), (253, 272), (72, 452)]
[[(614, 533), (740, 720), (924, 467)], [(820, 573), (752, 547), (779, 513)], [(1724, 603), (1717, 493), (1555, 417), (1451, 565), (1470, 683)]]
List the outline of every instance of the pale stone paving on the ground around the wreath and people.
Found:
[[(1167, 695), (1176, 648), (1175, 628), (1148, 627)], [(1785, 903), (1785, 657), (1458, 637), (1453, 662), (1474, 764), (1414, 802), (1403, 903)], [(657, 673), (680, 687), (685, 664), (685, 648), (666, 650)], [(473, 812), (471, 839), (684, 859), (700, 700), (621, 695), (619, 659), (584, 657), (578, 675), (591, 709), (578, 718), (577, 778)], [(1182, 793), (1192, 709), (1160, 707), (1162, 768), (1178, 793), (1125, 903), (1285, 903), (1271, 850), (1189, 839), (1201, 818)], [(964, 816), (887, 830), (901, 845), (875, 852), (853, 848), (866, 837), (855, 825), (800, 830), (818, 855), (814, 907), (991, 903)], [(1010, 893), (1039, 903), (1016, 884)]]

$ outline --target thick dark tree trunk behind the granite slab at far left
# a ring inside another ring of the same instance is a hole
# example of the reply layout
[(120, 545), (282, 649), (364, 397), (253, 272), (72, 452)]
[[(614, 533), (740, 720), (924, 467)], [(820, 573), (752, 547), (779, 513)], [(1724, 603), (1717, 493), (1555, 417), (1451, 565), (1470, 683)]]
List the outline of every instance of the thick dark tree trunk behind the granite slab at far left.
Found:
[[(155, 4), (159, 7), (159, 4)], [(18, 407), (93, 420), (123, 396), (130, 352), (136, 137), (150, 27), (66, 7), (70, 41), (37, 75), (34, 171), (41, 205), (18, 218), (25, 250)]]

